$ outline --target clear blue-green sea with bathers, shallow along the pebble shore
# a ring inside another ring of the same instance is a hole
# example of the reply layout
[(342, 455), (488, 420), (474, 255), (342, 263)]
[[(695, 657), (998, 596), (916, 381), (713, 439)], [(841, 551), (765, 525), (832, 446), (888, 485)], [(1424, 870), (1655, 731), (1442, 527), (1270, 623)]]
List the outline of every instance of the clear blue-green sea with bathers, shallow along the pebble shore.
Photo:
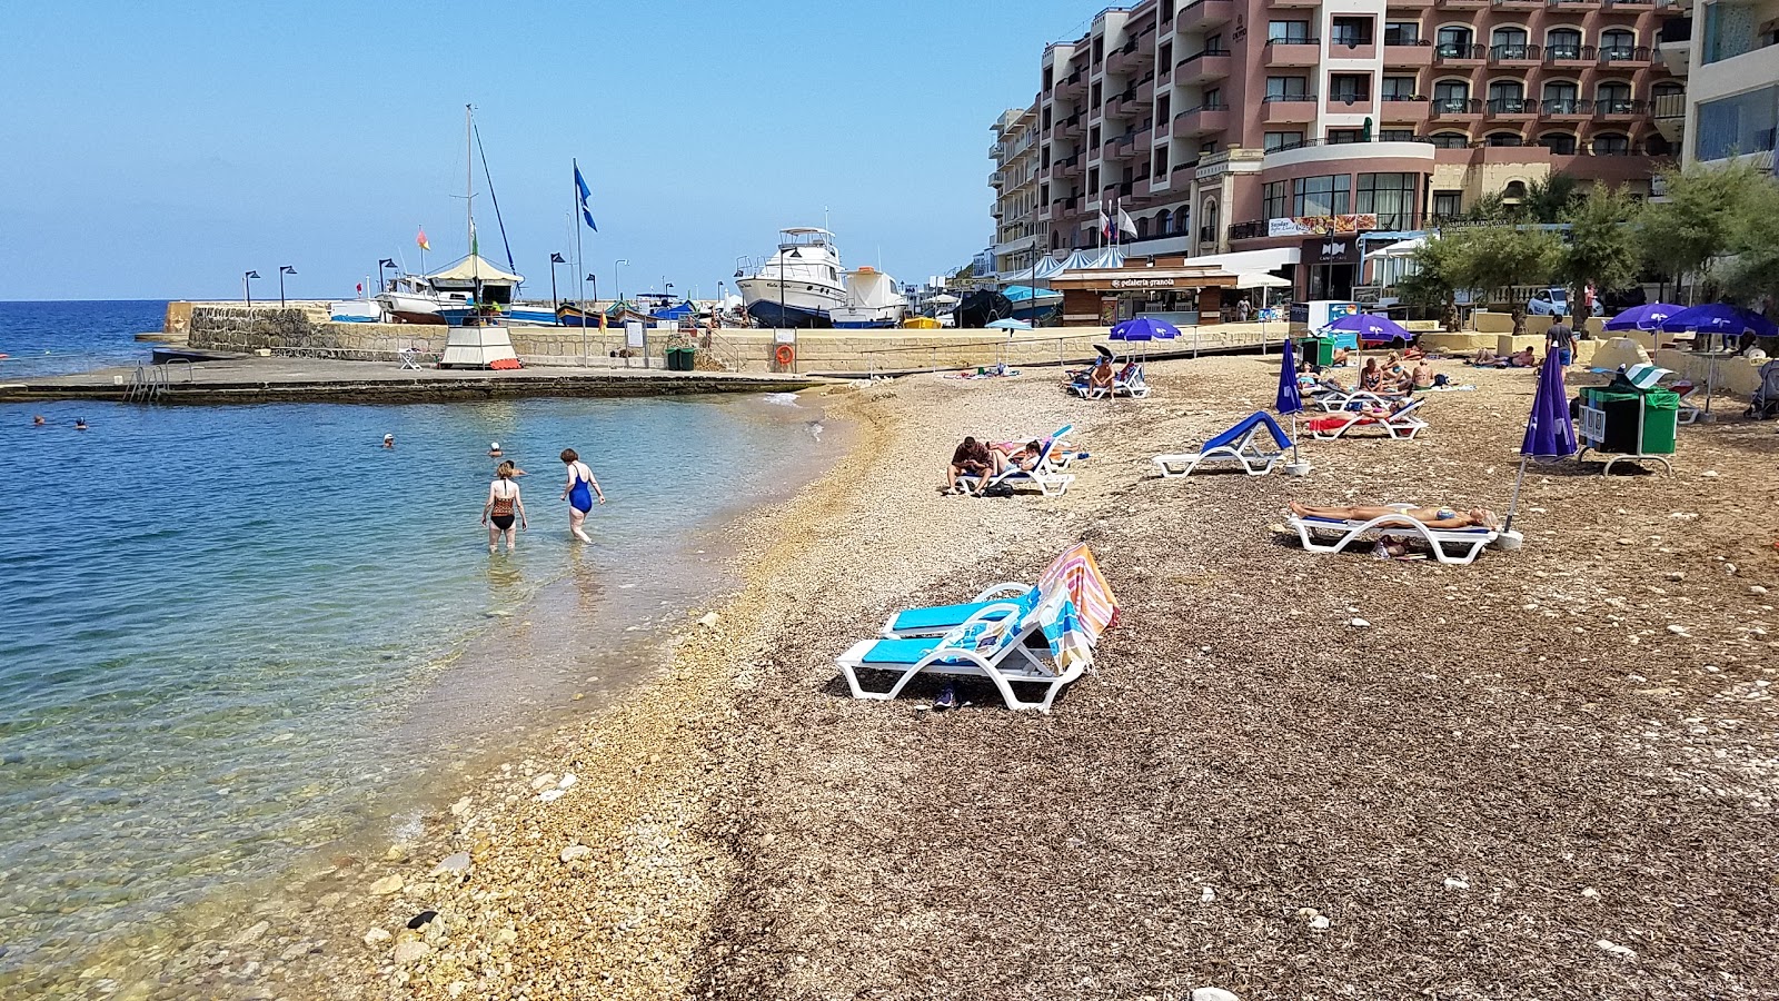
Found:
[[(0, 303), (0, 383), (142, 363), (164, 310)], [(514, 554), (479, 524), (493, 442), (527, 474)], [(566, 447), (610, 499), (591, 545)], [(0, 994), (30, 996), (623, 698), (733, 584), (735, 518), (836, 445), (735, 394), (0, 404)]]

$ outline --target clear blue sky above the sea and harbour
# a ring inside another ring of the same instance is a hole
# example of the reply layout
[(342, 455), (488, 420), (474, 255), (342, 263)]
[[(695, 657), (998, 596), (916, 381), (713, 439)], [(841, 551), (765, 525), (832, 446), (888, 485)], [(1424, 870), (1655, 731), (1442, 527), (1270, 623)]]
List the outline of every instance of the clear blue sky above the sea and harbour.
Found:
[[(610, 294), (706, 296), (831, 210), (847, 264), (902, 280), (993, 239), (989, 125), (1098, 7), (1025, 4), (20, 4), (0, 94), (0, 299), (228, 297), (278, 265), (350, 296), (379, 256), (464, 253), (477, 105), (527, 292), (573, 251)], [(477, 167), (482, 251), (503, 258)], [(881, 255), (881, 258), (879, 258)], [(573, 276), (560, 273), (564, 283)]]

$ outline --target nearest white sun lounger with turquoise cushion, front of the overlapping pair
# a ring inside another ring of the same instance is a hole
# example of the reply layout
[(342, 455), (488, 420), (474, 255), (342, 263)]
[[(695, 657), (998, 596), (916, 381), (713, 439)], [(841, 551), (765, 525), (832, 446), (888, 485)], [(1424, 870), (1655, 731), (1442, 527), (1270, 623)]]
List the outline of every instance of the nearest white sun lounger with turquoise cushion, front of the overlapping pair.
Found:
[[(1050, 663), (1041, 654), (1050, 654), (1048, 647), (1034, 647), (1035, 636), (1042, 636), (1044, 622), (1060, 614), (1064, 607), (1073, 614), (1069, 593), (1062, 588), (1044, 595), (1035, 606), (1018, 618), (1005, 616), (987, 622), (973, 622), (954, 629), (943, 638), (923, 639), (861, 639), (840, 655), (840, 670), (847, 675), (847, 686), (854, 698), (893, 700), (902, 695), (907, 682), (920, 673), (986, 677), (1000, 691), (1009, 709), (1037, 709), (1050, 712), (1050, 704), (1062, 691), (1062, 686), (1082, 677), (1092, 666), (1091, 648), (1071, 647), (1060, 657), (1066, 666)], [(866, 691), (859, 684), (861, 670), (898, 673), (900, 677), (888, 691)], [(1021, 700), (1014, 695), (1016, 684), (1042, 686), (1041, 700)]]

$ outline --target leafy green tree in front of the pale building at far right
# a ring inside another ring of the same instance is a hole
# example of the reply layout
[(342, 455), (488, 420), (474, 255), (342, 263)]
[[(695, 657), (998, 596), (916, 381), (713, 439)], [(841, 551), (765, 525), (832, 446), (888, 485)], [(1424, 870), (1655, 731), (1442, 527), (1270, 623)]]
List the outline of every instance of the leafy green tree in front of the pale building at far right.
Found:
[(1747, 162), (1667, 169), (1662, 182), (1665, 199), (1638, 214), (1637, 242), (1649, 267), (1676, 287), (1704, 276), (1711, 258), (1729, 248), (1738, 217), (1759, 205), (1759, 189), (1772, 183)]

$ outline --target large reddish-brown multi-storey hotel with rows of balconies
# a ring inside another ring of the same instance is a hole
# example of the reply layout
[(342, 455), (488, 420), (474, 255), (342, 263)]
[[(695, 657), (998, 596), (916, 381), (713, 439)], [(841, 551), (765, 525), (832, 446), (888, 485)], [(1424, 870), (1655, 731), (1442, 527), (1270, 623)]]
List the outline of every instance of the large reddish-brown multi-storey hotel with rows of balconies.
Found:
[[(1763, 0), (1774, 2), (1774, 0)], [(1126, 255), (1292, 249), (1345, 297), (1359, 233), (1418, 230), (1551, 171), (1647, 192), (1679, 94), (1674, 0), (1144, 0), (1053, 43), (1037, 100), (1046, 251), (1137, 224)], [(1283, 273), (1284, 267), (1281, 265)]]

